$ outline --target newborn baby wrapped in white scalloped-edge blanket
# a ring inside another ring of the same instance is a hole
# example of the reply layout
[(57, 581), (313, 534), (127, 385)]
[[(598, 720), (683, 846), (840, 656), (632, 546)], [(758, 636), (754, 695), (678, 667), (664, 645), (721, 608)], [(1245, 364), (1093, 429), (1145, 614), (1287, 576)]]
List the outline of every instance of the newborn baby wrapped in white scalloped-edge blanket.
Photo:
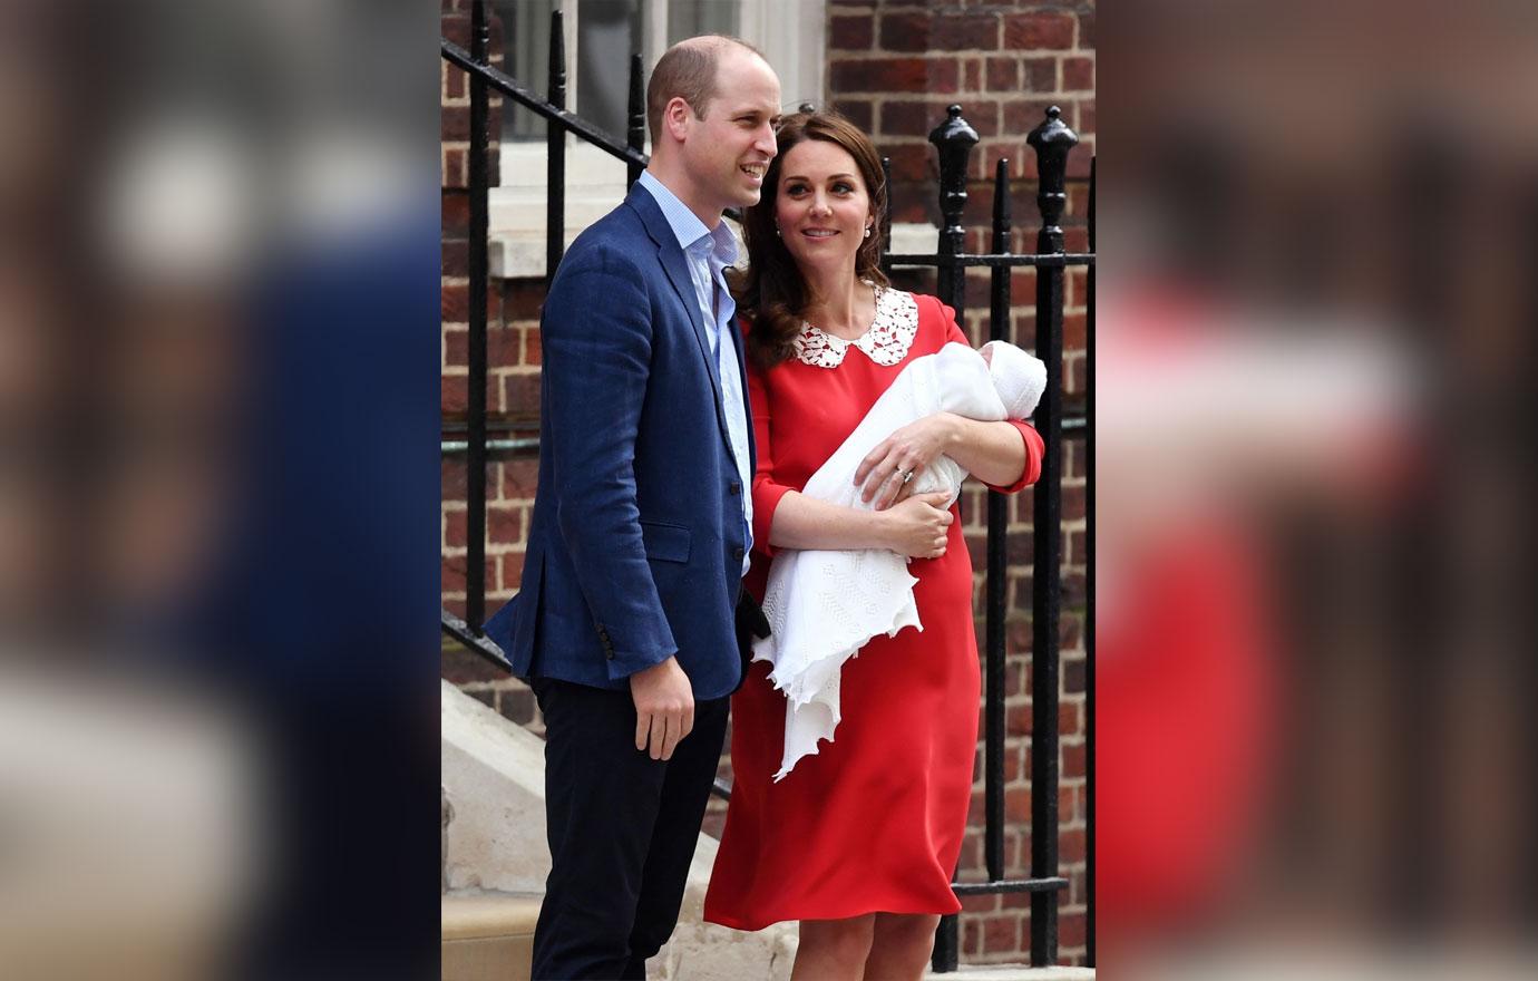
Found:
[[(981, 421), (1026, 418), (1046, 389), (1046, 364), (1020, 348), (989, 341), (981, 351), (950, 343), (914, 358), (871, 407), (803, 494), (869, 510), (855, 471), (881, 440), (937, 412)], [(966, 471), (940, 457), (914, 477), (912, 494), (946, 492), (947, 507)], [(784, 757), (780, 781), (798, 760), (817, 753), (818, 740), (838, 727), (838, 680), (844, 661), (877, 635), (924, 629), (914, 603), (907, 558), (886, 549), (780, 549), (769, 569), (763, 610), (771, 635), (754, 644), (754, 660), (769, 661), (769, 680), (786, 695)]]

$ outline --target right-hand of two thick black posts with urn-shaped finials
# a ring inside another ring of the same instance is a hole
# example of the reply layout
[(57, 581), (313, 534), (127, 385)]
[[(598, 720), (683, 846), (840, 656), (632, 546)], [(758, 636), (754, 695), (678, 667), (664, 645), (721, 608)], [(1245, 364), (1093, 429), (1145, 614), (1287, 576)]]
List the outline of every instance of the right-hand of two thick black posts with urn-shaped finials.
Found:
[[(1078, 137), (1060, 118), (1057, 106), (1047, 109), (1044, 123), (1026, 141), (1037, 152), (1041, 231), (1037, 252), (1063, 252), (1058, 221), (1067, 195), (1067, 152)], [(1032, 515), (1035, 566), (1032, 572), (1030, 632), (1030, 876), (1047, 878), (1058, 872), (1058, 603), (1063, 515), (1063, 281), (1064, 266), (1037, 269), (1037, 357), (1047, 366), (1047, 389), (1037, 407), (1037, 431), (1046, 443), (1041, 480), (1035, 487)], [(1030, 895), (1030, 964), (1057, 963), (1058, 896), (1055, 892)]]

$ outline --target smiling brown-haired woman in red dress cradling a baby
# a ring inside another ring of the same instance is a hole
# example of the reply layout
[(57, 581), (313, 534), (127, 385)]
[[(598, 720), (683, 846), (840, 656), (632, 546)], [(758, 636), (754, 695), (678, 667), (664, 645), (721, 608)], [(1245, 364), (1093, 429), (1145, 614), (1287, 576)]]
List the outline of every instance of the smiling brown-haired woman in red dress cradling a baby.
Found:
[(797, 114), (744, 220), (754, 478), (754, 567), (763, 597), (777, 549), (891, 549), (910, 557), (923, 632), (877, 637), (843, 667), (832, 743), (775, 783), (784, 695), (755, 661), (732, 700), (732, 801), (704, 918), (741, 930), (800, 921), (794, 981), (918, 978), (941, 913), (960, 909), (961, 850), (977, 750), (980, 673), (972, 563), (944, 495), (907, 495), (941, 454), (1000, 490), (1040, 474), (1023, 421), (950, 414), (892, 434), (857, 474), (875, 510), (800, 492), (903, 366), (966, 343), (934, 297), (887, 286), (886, 206), (871, 140), (835, 114)]

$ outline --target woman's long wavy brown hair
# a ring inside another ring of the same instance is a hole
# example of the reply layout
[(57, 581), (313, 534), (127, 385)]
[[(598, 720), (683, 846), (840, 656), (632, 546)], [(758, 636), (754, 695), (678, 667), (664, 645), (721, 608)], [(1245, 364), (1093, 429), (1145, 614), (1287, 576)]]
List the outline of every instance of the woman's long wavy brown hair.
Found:
[(875, 229), (860, 243), (855, 254), (855, 278), (886, 286), (881, 272), (881, 224), (886, 215), (886, 177), (875, 145), (858, 126), (837, 112), (797, 112), (784, 117), (775, 131), (778, 152), (764, 174), (758, 203), (743, 215), (743, 240), (747, 243), (747, 272), (732, 275), (737, 309), (752, 326), (747, 335), (747, 357), (761, 369), (769, 369), (795, 354), (795, 337), (801, 332), (806, 311), (806, 281), (795, 260), (775, 234), (775, 203), (780, 195), (780, 163), (797, 143), (826, 140), (851, 157), (860, 168)]

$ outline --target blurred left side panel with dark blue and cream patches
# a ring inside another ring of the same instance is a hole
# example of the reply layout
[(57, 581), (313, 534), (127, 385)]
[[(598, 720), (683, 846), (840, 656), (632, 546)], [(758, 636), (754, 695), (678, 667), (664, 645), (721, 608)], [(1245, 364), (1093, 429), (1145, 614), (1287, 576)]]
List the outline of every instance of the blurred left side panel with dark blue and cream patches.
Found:
[(0, 5), (0, 976), (437, 961), (437, 9)]

